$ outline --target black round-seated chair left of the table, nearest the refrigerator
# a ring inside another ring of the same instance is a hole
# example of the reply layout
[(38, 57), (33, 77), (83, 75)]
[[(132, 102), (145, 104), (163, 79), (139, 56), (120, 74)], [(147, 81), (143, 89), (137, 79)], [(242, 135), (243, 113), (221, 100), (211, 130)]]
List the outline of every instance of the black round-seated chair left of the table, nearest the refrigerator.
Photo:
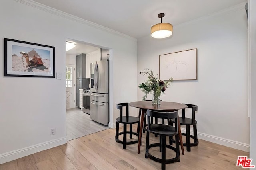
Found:
[[(123, 116), (123, 108), (126, 107), (126, 116)], [(130, 134), (130, 139), (132, 139), (132, 135), (138, 136), (139, 133), (132, 131), (132, 125), (138, 124), (137, 131), (140, 129), (140, 119), (138, 117), (129, 116), (129, 106), (128, 103), (119, 103), (116, 104), (116, 108), (119, 109), (119, 117), (116, 118), (116, 142), (123, 144), (123, 149), (126, 149), (126, 145), (138, 143), (138, 139), (133, 141), (127, 141), (127, 134)], [(124, 125), (124, 130), (119, 132), (119, 123)], [(130, 125), (130, 131), (127, 131), (127, 125)], [(119, 136), (123, 135), (123, 140), (119, 139)]]

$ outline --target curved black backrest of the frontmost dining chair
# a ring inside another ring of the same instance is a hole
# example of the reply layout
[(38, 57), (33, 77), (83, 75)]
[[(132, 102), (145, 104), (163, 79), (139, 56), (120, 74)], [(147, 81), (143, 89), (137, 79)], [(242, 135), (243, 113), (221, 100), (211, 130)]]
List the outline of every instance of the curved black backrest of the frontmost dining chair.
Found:
[(147, 117), (148, 117), (148, 129), (151, 130), (151, 124), (153, 123), (153, 119), (150, 117), (160, 118), (160, 119), (174, 119), (175, 125), (175, 132), (178, 133), (178, 111), (154, 111), (154, 110), (147, 110)]

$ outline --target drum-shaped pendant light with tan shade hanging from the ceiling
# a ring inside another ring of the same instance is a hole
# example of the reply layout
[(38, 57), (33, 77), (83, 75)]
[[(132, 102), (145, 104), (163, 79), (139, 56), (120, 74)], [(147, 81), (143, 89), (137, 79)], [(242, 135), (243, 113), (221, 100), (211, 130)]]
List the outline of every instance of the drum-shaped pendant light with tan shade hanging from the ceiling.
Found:
[(164, 13), (158, 14), (158, 17), (161, 18), (161, 23), (158, 23), (151, 27), (151, 37), (153, 38), (170, 37), (172, 35), (172, 24), (162, 23), (162, 17), (164, 17)]

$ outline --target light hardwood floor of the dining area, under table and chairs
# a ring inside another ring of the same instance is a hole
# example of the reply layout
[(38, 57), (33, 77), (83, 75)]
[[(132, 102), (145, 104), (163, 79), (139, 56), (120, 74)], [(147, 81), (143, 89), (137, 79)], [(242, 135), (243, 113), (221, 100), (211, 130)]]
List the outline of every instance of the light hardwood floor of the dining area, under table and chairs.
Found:
[[(106, 129), (7, 162), (0, 165), (0, 170), (160, 170), (160, 163), (145, 158), (145, 137), (144, 133), (140, 154), (137, 154), (138, 143), (127, 145), (124, 150), (122, 144), (115, 142), (115, 129)], [(159, 137), (150, 135), (150, 143), (158, 140)], [(184, 149), (180, 162), (166, 164), (167, 170), (239, 170), (242, 167), (236, 166), (238, 156), (249, 156), (248, 152), (204, 140), (199, 140), (199, 145), (192, 147), (191, 152)], [(167, 155), (171, 156), (168, 151)], [(160, 157), (157, 150), (152, 152)]]

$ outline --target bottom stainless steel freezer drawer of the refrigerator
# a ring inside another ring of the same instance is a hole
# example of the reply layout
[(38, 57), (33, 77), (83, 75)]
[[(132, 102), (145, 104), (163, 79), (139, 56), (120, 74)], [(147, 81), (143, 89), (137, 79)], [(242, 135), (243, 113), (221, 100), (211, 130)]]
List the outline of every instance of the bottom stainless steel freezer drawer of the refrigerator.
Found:
[(91, 100), (90, 107), (90, 117), (92, 120), (101, 123), (103, 125), (108, 125), (109, 114), (108, 114), (108, 103), (95, 102)]

